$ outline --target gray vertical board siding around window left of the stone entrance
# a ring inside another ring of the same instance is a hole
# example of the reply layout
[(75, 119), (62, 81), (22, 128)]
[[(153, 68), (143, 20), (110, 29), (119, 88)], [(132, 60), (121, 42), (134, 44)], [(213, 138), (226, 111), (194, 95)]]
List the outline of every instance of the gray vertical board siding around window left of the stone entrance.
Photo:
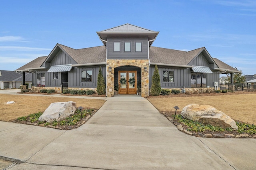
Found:
[[(102, 70), (104, 81), (106, 83), (106, 65), (74, 67), (68, 73), (68, 87), (74, 88), (97, 88), (99, 70)], [(81, 82), (81, 71), (92, 70), (92, 82)]]

